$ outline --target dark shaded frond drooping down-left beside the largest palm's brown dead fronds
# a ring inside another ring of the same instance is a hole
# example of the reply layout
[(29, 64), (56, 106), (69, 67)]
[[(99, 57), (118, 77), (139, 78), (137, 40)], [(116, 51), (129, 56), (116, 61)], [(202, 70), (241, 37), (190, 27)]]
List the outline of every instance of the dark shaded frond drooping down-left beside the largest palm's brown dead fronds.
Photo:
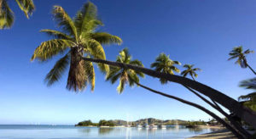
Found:
[(53, 85), (56, 81), (59, 81), (61, 79), (61, 75), (65, 72), (67, 69), (67, 65), (69, 64), (70, 55), (67, 53), (64, 57), (59, 59), (56, 63), (53, 69), (49, 71), (49, 73), (46, 75), (44, 81), (47, 83), (47, 86)]

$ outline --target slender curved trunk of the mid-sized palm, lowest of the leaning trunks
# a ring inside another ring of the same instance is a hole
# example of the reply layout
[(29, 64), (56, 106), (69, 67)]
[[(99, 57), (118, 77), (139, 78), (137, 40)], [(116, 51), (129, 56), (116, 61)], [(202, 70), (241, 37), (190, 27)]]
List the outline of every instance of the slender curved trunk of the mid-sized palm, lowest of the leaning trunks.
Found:
[(184, 100), (184, 99), (182, 99), (182, 98), (179, 98), (179, 97), (175, 97), (175, 96), (172, 96), (172, 95), (163, 93), (163, 92), (155, 91), (154, 89), (151, 89), (151, 88), (149, 88), (149, 87), (147, 87), (147, 86), (143, 86), (143, 85), (141, 85), (140, 83), (137, 83), (136, 81), (135, 81), (135, 83), (137, 84), (137, 86), (141, 86), (141, 87), (143, 87), (144, 89), (146, 89), (146, 90), (148, 90), (148, 91), (150, 91), (150, 92), (154, 92), (154, 93), (159, 94), (159, 95), (161, 95), (161, 96), (169, 97), (169, 98), (175, 99), (175, 100), (177, 100), (177, 101), (179, 101), (179, 102), (181, 102), (181, 103), (186, 103), (186, 104), (188, 104), (188, 105), (190, 105), (190, 106), (193, 106), (193, 107), (195, 107), (195, 108), (199, 108), (199, 109), (201, 109), (202, 111), (204, 111), (205, 113), (211, 115), (212, 118), (218, 120), (218, 122), (220, 122), (220, 123), (221, 123), (222, 125), (224, 125), (227, 129), (229, 129), (236, 137), (241, 138), (241, 139), (242, 139), (242, 138), (245, 138), (245, 137), (242, 136), (238, 131), (236, 131), (236, 129), (234, 129), (231, 125), (229, 125), (227, 122), (225, 122), (225, 121), (222, 120), (220, 117), (218, 117), (218, 115), (213, 114), (213, 113), (212, 113), (211, 111), (209, 111), (207, 108), (203, 108), (201, 105), (198, 105), (198, 104), (196, 104), (196, 103), (191, 103), (191, 102), (186, 101), (186, 100)]

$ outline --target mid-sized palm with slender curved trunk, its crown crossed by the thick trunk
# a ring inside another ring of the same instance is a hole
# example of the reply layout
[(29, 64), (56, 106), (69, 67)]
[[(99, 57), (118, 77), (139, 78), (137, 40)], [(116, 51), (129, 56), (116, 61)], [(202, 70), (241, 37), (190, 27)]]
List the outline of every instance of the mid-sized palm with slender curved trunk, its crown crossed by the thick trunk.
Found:
[[(143, 67), (143, 64), (140, 61), (138, 61), (137, 59), (136, 60), (131, 60), (131, 55), (128, 52), (127, 48), (123, 49), (119, 53), (119, 56), (117, 57), (116, 62), (122, 63), (122, 64), (131, 64), (131, 65), (136, 65), (136, 66)], [(113, 66), (111, 66), (110, 70), (108, 72), (108, 75), (106, 75), (106, 80), (107, 81), (111, 81), (112, 84), (119, 80), (119, 86), (117, 87), (117, 91), (119, 93), (124, 91), (125, 83), (129, 84), (130, 86), (134, 86), (135, 84), (137, 84), (137, 86), (141, 86), (141, 87), (143, 87), (144, 89), (146, 89), (146, 90), (148, 90), (150, 92), (154, 92), (154, 93), (159, 94), (161, 96), (169, 97), (169, 98), (175, 99), (175, 100), (177, 100), (177, 101), (179, 101), (181, 103), (185, 103), (185, 104), (188, 104), (188, 105), (190, 105), (192, 107), (199, 108), (202, 111), (206, 112), (207, 114), (210, 114), (213, 118), (217, 119), (223, 125), (225, 125), (236, 136), (242, 136), (242, 135), (240, 135), (241, 133), (236, 131), (236, 129), (234, 129), (227, 122), (225, 122), (220, 117), (218, 117), (218, 115), (213, 114), (212, 112), (207, 110), (207, 108), (203, 108), (203, 107), (201, 107), (198, 104), (191, 103), (191, 102), (183, 100), (183, 99), (181, 99), (179, 97), (174, 97), (172, 95), (168, 95), (168, 94), (163, 93), (163, 92), (155, 91), (154, 89), (151, 89), (148, 86), (143, 86), (142, 84), (139, 83), (139, 77), (138, 76), (144, 77), (142, 72), (137, 72), (136, 70), (133, 70), (133, 69), (126, 69), (126, 68), (120, 68), (120, 67), (113, 67)]]

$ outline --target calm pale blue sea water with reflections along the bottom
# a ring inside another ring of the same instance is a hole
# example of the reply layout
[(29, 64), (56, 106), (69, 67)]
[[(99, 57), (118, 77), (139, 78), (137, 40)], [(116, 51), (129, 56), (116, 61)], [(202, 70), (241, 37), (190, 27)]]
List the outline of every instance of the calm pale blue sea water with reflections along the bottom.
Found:
[(0, 125), (1, 139), (172, 139), (186, 138), (214, 129), (169, 126), (161, 129), (137, 129), (136, 127), (75, 127), (72, 125)]

